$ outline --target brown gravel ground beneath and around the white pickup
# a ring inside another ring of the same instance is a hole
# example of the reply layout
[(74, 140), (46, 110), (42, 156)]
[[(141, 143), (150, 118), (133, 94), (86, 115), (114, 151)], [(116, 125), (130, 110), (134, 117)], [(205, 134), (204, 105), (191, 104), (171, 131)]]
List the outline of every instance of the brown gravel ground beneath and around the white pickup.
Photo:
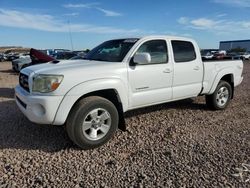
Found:
[(83, 151), (63, 127), (29, 122), (18, 75), (0, 63), (0, 187), (250, 187), (250, 62), (224, 111), (204, 97), (126, 114), (101, 148)]

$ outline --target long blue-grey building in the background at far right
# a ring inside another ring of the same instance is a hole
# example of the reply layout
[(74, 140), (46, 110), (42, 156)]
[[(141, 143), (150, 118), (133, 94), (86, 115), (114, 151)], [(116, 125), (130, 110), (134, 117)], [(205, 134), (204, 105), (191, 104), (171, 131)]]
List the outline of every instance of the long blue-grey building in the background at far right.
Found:
[(249, 40), (220, 41), (220, 50), (230, 51), (236, 48), (246, 49), (246, 51), (250, 51), (250, 39)]

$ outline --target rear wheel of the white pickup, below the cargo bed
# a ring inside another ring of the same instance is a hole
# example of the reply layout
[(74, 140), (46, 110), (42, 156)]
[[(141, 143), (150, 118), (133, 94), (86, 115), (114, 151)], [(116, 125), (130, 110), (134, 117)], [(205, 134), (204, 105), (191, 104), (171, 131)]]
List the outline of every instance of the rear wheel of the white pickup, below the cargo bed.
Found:
[(232, 98), (231, 85), (221, 80), (212, 95), (206, 95), (206, 104), (212, 110), (225, 109)]

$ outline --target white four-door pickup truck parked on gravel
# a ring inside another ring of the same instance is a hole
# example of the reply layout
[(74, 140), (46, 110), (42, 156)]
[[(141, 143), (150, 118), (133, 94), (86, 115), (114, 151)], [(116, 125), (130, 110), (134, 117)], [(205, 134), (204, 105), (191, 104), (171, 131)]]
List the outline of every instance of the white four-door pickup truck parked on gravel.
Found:
[(202, 62), (188, 38), (116, 39), (85, 60), (23, 69), (15, 99), (30, 121), (66, 125), (71, 140), (90, 149), (107, 142), (132, 109), (199, 95), (212, 109), (226, 108), (242, 71), (241, 60)]

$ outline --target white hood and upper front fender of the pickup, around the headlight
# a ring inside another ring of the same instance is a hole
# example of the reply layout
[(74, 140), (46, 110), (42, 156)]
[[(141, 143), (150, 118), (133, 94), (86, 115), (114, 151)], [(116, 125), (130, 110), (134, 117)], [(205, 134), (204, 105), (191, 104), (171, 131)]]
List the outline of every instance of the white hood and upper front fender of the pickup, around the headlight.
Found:
[(127, 68), (123, 62), (64, 60), (33, 65), (22, 69), (21, 73), (29, 75), (30, 80), (36, 74), (63, 75), (60, 87), (47, 95), (64, 95), (71, 88), (87, 81), (126, 78)]

